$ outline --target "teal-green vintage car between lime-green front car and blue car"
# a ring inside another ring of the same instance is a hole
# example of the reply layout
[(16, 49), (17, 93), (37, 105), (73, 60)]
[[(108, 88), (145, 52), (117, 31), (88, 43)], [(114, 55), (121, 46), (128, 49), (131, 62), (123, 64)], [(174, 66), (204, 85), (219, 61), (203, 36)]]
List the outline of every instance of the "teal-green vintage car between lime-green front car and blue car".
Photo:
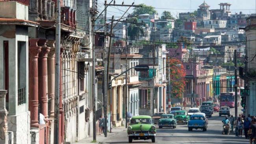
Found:
[(173, 127), (176, 128), (177, 120), (174, 118), (174, 114), (162, 114), (158, 121), (158, 126), (162, 127)]

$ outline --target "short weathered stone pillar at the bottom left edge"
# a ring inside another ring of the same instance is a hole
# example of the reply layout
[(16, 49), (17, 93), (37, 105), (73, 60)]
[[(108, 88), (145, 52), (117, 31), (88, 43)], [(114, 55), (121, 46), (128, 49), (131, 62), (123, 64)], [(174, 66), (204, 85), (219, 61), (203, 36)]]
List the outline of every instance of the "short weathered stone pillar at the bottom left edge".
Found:
[(8, 144), (6, 94), (7, 90), (0, 90), (0, 144)]

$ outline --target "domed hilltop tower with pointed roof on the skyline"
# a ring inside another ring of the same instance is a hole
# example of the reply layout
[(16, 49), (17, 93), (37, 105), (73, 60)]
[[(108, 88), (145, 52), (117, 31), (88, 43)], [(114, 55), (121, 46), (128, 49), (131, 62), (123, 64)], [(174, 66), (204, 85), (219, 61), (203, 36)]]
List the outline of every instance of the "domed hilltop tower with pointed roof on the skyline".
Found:
[(197, 9), (197, 17), (203, 20), (210, 20), (211, 13), (209, 7), (210, 6), (204, 1), (204, 3), (199, 6), (199, 9)]

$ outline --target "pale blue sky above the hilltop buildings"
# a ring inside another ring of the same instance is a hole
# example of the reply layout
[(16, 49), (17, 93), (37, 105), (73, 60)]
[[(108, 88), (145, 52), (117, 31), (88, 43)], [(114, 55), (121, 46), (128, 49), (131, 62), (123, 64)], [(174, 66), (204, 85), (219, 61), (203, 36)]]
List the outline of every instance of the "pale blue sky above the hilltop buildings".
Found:
[[(107, 0), (109, 3), (111, 0)], [(156, 11), (161, 15), (163, 11), (171, 11), (171, 14), (176, 17), (178, 13), (190, 12), (197, 10), (200, 4), (204, 0), (115, 0), (116, 4), (146, 4), (149, 6), (156, 7)], [(239, 13), (242, 11), (245, 14), (256, 13), (256, 0), (205, 0), (206, 4), (210, 5), (210, 9), (219, 9), (219, 3), (228, 2), (232, 4), (230, 6), (230, 11), (233, 13)], [(104, 0), (98, 0), (100, 12), (104, 9)], [(191, 5), (190, 5), (191, 4)], [(108, 7), (107, 16), (120, 17), (126, 11), (128, 7)], [(128, 13), (132, 13), (132, 8), (129, 9)]]

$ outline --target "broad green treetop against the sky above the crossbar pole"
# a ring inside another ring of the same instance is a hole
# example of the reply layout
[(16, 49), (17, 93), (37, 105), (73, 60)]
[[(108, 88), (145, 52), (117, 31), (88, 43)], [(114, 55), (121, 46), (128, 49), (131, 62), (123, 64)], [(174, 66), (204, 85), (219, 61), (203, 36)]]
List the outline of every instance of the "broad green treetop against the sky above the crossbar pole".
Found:
[(139, 6), (142, 6), (142, 7), (134, 7), (134, 12), (132, 12), (132, 15), (142, 15), (142, 14), (153, 15), (157, 13), (155, 8), (152, 6), (147, 6), (145, 4), (139, 4)]

